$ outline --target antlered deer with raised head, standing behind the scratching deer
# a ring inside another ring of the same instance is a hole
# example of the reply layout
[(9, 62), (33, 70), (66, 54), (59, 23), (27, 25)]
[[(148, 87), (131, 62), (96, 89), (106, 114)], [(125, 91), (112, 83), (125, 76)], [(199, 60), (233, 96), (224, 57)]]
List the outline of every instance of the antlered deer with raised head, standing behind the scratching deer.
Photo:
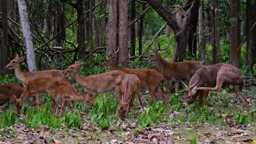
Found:
[(166, 79), (167, 95), (171, 93), (171, 85), (174, 83), (175, 91), (178, 91), (179, 82), (189, 81), (195, 71), (203, 65), (197, 61), (166, 62), (161, 57), (161, 50), (154, 49), (154, 52), (147, 58), (148, 62), (155, 62), (152, 69), (157, 69)]

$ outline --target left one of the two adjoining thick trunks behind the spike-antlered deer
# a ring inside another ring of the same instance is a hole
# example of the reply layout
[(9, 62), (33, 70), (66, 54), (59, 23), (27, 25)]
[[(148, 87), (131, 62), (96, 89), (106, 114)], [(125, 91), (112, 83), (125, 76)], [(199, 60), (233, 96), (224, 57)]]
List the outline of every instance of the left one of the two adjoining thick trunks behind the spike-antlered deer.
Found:
[(108, 1), (108, 53), (117, 51), (118, 1)]

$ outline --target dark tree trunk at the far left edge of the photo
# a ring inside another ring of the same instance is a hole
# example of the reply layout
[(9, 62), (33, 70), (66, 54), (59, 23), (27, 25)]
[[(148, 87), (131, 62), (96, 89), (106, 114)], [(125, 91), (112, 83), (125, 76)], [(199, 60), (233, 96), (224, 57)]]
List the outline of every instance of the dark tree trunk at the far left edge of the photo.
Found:
[[(3, 17), (3, 37), (0, 45), (1, 53), (0, 53), (0, 74), (2, 73), (2, 69), (4, 69), (5, 65), (8, 63), (8, 1), (2, 1), (2, 17)], [(2, 47), (1, 47), (2, 46)]]

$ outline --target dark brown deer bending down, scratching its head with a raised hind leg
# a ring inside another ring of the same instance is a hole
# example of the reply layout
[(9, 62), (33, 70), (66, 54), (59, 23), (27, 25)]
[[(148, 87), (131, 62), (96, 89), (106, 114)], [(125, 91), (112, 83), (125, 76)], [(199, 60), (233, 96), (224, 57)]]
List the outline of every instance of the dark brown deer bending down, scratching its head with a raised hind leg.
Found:
[(183, 107), (194, 103), (197, 95), (199, 96), (199, 105), (203, 107), (209, 91), (220, 92), (222, 88), (230, 88), (249, 110), (247, 100), (242, 94), (244, 81), (240, 70), (230, 64), (219, 63), (203, 66), (190, 79), (189, 86), (185, 83), (183, 85), (185, 86), (181, 91), (184, 92)]

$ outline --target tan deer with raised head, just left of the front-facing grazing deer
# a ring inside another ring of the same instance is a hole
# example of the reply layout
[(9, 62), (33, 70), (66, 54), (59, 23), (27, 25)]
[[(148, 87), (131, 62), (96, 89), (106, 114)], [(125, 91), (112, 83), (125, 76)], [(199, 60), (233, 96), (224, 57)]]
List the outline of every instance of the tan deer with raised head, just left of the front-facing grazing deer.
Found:
[(69, 65), (69, 67), (63, 71), (63, 74), (74, 74), (75, 81), (84, 88), (88, 95), (92, 95), (92, 102), (95, 104), (95, 99), (98, 93), (106, 93), (116, 89), (120, 98), (120, 83), (123, 77), (126, 75), (123, 71), (114, 70), (107, 73), (90, 75), (87, 77), (82, 77), (79, 73), (79, 68), (82, 67), (84, 63), (75, 62), (75, 64)]

